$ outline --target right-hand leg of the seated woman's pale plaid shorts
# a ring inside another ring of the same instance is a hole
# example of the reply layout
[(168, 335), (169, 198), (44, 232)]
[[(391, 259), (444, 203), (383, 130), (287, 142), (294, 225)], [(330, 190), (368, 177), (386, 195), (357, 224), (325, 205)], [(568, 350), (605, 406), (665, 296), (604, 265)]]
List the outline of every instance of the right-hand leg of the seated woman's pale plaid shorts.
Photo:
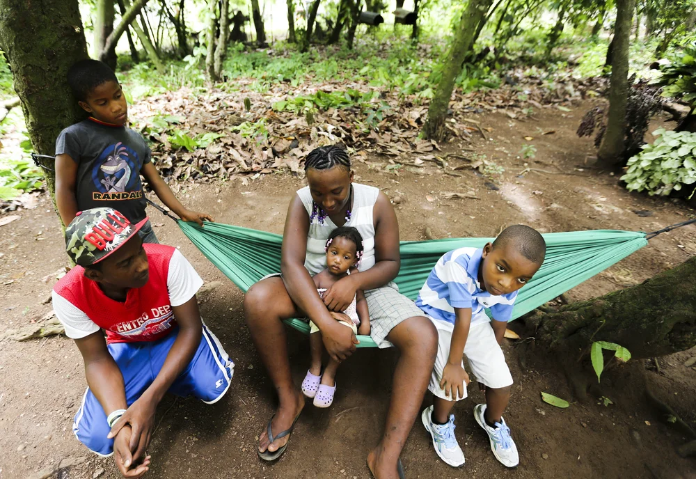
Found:
[(400, 322), (414, 316), (425, 316), (416, 303), (399, 292), (396, 283), (365, 291), (370, 311), (370, 336), (380, 348), (393, 346), (386, 340), (389, 331)]

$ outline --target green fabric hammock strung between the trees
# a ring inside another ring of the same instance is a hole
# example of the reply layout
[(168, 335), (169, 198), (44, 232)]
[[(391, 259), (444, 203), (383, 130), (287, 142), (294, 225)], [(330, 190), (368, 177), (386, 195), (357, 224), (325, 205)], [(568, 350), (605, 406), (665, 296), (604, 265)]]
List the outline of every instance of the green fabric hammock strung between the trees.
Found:
[[(283, 237), (221, 223), (177, 221), (191, 242), (241, 290), (260, 278), (280, 272), (280, 243)], [(512, 319), (532, 311), (647, 244), (645, 233), (619, 230), (590, 230), (548, 233), (546, 259), (539, 272), (519, 292)], [(396, 283), (400, 291), (416, 299), (425, 279), (440, 257), (464, 246), (482, 248), (493, 238), (432, 239), (402, 242), (401, 269)], [(291, 327), (309, 333), (302, 320), (287, 320)], [(358, 347), (377, 346), (370, 336), (358, 336)]]

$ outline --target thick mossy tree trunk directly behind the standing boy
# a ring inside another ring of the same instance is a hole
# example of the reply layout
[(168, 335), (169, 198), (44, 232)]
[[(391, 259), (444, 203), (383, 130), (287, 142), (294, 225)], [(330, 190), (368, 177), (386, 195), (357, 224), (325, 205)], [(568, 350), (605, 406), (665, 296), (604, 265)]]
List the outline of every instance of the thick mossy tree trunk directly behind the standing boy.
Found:
[[(61, 130), (86, 116), (67, 79), (73, 63), (89, 58), (77, 0), (0, 0), (0, 45), (33, 150), (55, 155)], [(55, 203), (55, 164), (40, 161), (50, 168), (44, 174)]]

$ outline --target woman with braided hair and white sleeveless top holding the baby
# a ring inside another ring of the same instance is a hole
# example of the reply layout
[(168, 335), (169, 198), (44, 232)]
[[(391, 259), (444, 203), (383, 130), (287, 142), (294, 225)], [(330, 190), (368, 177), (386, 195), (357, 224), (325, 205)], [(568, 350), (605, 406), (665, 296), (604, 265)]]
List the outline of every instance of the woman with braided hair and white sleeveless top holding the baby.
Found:
[[(308, 317), (322, 332), (331, 358), (342, 361), (355, 351), (358, 340), (329, 310), (344, 311), (356, 291), (363, 290), (372, 339), (379, 347), (395, 345), (401, 353), (385, 432), (367, 456), (367, 465), (377, 479), (398, 478), (402, 476), (399, 455), (432, 372), (437, 333), (432, 322), (392, 282), (400, 267), (399, 225), (386, 195), (375, 187), (353, 183), (348, 155), (338, 146), (310, 152), (305, 170), (309, 186), (297, 191), (285, 219), (282, 278), (262, 279), (244, 299), (246, 323), (279, 401), (276, 414), (260, 434), (258, 453), (268, 461), (283, 454), (305, 403), (292, 382), (281, 321)], [(326, 267), (326, 239), (340, 226), (353, 226), (361, 233), (363, 258), (358, 273), (337, 281), (322, 301), (312, 275)]]

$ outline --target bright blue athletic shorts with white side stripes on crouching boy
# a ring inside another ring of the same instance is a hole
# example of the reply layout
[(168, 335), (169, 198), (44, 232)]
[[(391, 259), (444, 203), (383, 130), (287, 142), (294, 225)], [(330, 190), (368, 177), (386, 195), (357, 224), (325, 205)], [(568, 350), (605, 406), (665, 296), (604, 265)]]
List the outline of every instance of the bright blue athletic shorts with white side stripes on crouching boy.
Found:
[[(111, 343), (109, 353), (123, 375), (126, 402), (130, 406), (152, 384), (179, 333), (175, 329), (168, 336), (148, 343)], [(189, 366), (169, 388), (178, 396), (194, 395), (212, 404), (230, 388), (234, 373), (232, 362), (218, 338), (203, 324), (203, 337)], [(109, 411), (110, 413), (111, 411)], [(106, 439), (111, 428), (106, 414), (92, 391), (87, 388), (82, 405), (72, 423), (72, 432), (89, 450), (100, 456), (113, 454), (113, 439)]]

